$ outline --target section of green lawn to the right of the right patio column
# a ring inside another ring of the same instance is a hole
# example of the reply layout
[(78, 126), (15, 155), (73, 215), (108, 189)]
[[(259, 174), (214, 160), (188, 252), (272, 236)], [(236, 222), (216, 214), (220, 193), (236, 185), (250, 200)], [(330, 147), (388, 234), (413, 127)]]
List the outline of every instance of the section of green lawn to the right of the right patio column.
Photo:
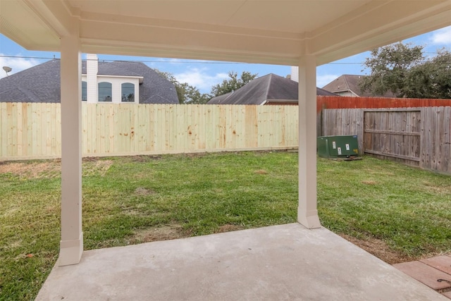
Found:
[(369, 157), (351, 163), (319, 161), (323, 226), (382, 240), (395, 262), (451, 252), (450, 176)]

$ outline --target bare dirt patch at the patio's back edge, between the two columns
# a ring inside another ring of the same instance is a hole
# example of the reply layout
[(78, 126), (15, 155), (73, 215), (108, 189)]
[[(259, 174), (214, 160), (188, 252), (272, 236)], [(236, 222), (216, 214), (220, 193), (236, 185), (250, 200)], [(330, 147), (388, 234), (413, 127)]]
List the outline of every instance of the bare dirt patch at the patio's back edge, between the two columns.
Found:
[(175, 240), (177, 238), (185, 238), (187, 235), (183, 233), (182, 226), (173, 223), (171, 225), (157, 226), (135, 231), (130, 238), (131, 244), (142, 242), (152, 242), (159, 240)]

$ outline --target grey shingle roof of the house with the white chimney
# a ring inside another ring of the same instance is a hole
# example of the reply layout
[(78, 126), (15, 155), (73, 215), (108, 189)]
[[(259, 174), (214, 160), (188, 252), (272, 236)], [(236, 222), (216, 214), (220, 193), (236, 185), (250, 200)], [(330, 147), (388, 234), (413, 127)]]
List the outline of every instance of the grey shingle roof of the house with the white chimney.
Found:
[[(61, 64), (53, 59), (0, 79), (0, 102), (60, 102)], [(86, 74), (86, 61), (82, 61)], [(99, 61), (98, 75), (140, 76), (140, 104), (178, 104), (172, 82), (144, 63)]]

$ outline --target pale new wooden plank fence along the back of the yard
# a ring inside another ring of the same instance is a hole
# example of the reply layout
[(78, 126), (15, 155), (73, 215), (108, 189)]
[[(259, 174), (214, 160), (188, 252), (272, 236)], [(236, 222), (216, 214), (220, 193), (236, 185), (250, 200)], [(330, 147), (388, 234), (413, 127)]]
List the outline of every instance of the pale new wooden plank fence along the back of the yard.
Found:
[[(297, 106), (82, 104), (82, 154), (290, 149)], [(61, 106), (0, 103), (0, 159), (61, 156)]]

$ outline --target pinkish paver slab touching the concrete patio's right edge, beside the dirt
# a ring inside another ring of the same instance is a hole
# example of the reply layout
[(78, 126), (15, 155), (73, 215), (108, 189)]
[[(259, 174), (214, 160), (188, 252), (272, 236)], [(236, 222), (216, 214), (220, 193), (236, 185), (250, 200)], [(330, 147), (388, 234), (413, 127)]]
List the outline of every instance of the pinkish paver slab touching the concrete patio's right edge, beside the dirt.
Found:
[(450, 278), (449, 274), (443, 273), (443, 271), (439, 271), (423, 262), (404, 262), (402, 264), (393, 264), (393, 266), (434, 290), (451, 288), (451, 284), (447, 281), (438, 281), (439, 279), (448, 280)]

